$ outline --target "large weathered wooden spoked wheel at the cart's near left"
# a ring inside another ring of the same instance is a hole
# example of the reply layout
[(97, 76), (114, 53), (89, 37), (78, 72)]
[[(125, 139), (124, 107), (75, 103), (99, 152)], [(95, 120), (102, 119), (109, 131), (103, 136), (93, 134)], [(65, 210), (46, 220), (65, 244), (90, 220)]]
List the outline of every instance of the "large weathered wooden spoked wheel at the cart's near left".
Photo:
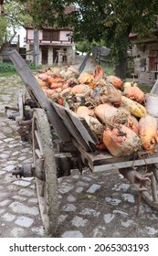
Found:
[(37, 199), (47, 234), (55, 235), (58, 226), (58, 178), (47, 115), (35, 109), (32, 119), (33, 158), (36, 166)]

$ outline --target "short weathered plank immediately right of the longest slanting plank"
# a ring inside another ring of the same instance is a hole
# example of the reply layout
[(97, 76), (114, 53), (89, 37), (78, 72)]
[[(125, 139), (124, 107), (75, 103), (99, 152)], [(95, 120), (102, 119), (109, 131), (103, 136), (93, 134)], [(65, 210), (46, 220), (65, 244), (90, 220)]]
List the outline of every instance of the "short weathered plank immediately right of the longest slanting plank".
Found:
[(58, 113), (58, 116), (62, 119), (63, 123), (65, 123), (66, 127), (68, 128), (68, 132), (75, 138), (75, 140), (78, 142), (81, 148), (83, 148), (85, 151), (90, 151), (91, 148), (89, 144), (86, 144), (86, 142), (81, 137), (78, 129), (69, 118), (68, 113), (66, 112), (66, 109), (63, 106), (60, 106), (53, 101), (52, 101), (52, 105), (55, 108), (56, 112)]

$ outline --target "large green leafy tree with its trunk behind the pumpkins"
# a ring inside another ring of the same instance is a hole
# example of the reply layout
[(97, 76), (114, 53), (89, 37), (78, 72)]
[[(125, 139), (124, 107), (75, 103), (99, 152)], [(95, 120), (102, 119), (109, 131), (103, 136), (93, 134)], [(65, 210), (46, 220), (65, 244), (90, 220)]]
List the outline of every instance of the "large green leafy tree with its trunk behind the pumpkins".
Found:
[[(111, 48), (116, 74), (124, 78), (130, 33), (149, 34), (158, 15), (157, 0), (19, 0), (37, 27), (73, 27), (75, 41), (100, 39)], [(68, 5), (76, 9), (66, 12)]]

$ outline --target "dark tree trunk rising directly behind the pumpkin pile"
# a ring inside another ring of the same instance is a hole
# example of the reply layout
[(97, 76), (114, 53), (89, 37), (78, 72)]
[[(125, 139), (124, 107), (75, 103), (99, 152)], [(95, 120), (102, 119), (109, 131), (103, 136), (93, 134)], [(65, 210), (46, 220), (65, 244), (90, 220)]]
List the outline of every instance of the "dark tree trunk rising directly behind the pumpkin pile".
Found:
[(115, 75), (121, 78), (121, 80), (126, 79), (127, 57), (127, 48), (124, 48), (124, 51), (119, 58), (118, 64), (115, 66)]

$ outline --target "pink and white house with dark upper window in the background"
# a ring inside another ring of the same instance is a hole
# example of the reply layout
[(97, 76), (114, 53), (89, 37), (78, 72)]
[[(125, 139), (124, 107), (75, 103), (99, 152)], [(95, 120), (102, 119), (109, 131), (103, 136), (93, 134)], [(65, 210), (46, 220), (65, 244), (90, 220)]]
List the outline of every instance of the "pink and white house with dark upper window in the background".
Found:
[[(38, 64), (71, 64), (75, 59), (75, 43), (69, 39), (72, 29), (43, 28), (38, 31)], [(34, 29), (26, 27), (26, 60), (34, 59)]]

